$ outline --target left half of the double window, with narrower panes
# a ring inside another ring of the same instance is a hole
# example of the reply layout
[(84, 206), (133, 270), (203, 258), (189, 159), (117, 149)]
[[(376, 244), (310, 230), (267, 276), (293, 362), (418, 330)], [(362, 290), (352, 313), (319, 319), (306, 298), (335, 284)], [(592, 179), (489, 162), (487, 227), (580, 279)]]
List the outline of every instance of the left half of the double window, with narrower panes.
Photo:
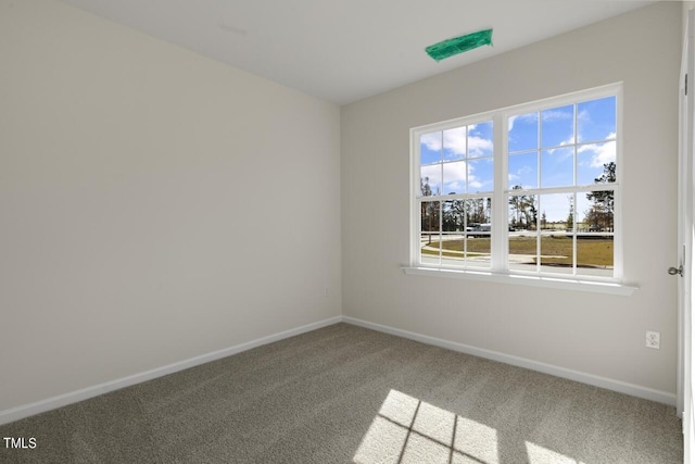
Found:
[(420, 262), (490, 267), (493, 123), (419, 137)]

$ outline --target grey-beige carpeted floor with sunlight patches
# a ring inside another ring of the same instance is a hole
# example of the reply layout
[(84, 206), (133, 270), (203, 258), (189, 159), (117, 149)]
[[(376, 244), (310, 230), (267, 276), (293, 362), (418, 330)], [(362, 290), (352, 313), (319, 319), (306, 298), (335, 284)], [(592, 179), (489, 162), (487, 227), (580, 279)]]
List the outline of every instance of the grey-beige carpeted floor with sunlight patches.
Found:
[(0, 427), (2, 463), (681, 463), (673, 407), (337, 324)]

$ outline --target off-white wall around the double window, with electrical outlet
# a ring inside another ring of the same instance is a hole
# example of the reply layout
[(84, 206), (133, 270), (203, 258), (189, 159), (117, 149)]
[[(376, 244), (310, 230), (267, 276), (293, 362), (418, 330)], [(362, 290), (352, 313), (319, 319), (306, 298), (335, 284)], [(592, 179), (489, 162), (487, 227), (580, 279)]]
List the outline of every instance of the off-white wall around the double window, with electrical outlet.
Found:
[[(343, 106), (343, 314), (674, 393), (680, 30), (681, 4), (660, 2)], [(621, 80), (634, 296), (404, 275), (409, 128)]]

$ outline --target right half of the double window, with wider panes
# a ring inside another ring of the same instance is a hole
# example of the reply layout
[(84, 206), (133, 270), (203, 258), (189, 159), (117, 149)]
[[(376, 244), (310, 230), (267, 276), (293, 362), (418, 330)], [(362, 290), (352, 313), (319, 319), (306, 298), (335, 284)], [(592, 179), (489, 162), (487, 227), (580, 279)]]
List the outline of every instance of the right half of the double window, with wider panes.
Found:
[(621, 277), (620, 106), (615, 85), (505, 113), (508, 272)]

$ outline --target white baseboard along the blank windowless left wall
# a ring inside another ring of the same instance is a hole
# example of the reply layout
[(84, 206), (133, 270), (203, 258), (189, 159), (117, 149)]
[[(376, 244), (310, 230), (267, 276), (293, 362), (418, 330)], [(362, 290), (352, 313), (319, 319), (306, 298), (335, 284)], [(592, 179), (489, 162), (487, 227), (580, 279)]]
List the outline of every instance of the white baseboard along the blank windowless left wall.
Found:
[(156, 367), (139, 374), (134, 374), (127, 377), (118, 378), (115, 380), (106, 381), (103, 384), (94, 385), (92, 387), (83, 388), (80, 390), (71, 391), (68, 393), (59, 394), (58, 397), (48, 398), (46, 400), (37, 401), (29, 404), (24, 404), (9, 410), (0, 411), (0, 425), (9, 424), (11, 422), (18, 421), (24, 417), (29, 417), (35, 414), (40, 414), (47, 411), (54, 410), (56, 407), (65, 406), (67, 404), (77, 403), (79, 401), (88, 400), (93, 397), (98, 397), (110, 391), (118, 390), (131, 385), (140, 384), (142, 381), (152, 380), (153, 378), (162, 377), (168, 374), (174, 374), (179, 371), (184, 371), (190, 367), (194, 367), (201, 364), (216, 361), (222, 358), (231, 356), (232, 354), (241, 353), (242, 351), (251, 350), (252, 348), (261, 347), (263, 344), (273, 343), (295, 335), (304, 334), (317, 328), (326, 327), (337, 324), (342, 321), (341, 316), (331, 317), (328, 319), (319, 321), (317, 323), (307, 324), (302, 327), (280, 331), (278, 334), (262, 337), (245, 343), (237, 344), (233, 347), (225, 348), (223, 350), (213, 351), (212, 353), (201, 354), (200, 356), (191, 358), (185, 361), (179, 361), (173, 364), (168, 364), (162, 367)]

